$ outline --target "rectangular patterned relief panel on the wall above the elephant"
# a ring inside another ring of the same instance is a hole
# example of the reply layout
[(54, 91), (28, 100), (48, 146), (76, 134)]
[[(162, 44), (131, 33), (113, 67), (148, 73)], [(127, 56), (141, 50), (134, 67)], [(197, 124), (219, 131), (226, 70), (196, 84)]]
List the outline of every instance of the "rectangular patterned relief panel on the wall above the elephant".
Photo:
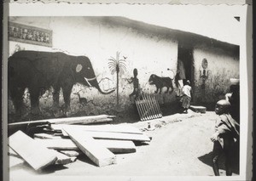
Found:
[(9, 22), (9, 41), (52, 47), (52, 31)]

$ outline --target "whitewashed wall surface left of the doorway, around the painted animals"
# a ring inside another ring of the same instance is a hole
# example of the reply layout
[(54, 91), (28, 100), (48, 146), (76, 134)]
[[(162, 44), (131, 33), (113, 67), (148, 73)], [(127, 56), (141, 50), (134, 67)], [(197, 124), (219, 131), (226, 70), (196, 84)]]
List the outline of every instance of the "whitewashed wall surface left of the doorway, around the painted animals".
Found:
[[(102, 20), (92, 20), (86, 17), (11, 17), (10, 21), (23, 25), (32, 25), (53, 31), (52, 48), (31, 45), (21, 42), (9, 42), (9, 54), (22, 49), (38, 51), (64, 51), (67, 54), (85, 55), (90, 58), (102, 90), (116, 88), (116, 75), (112, 75), (108, 68), (111, 57), (115, 58), (116, 52), (120, 57), (126, 58), (126, 71), (119, 75), (119, 106), (116, 105), (116, 92), (102, 95), (96, 88), (85, 88), (81, 85), (73, 87), (73, 93), (79, 90), (81, 97), (90, 103), (80, 105), (78, 96), (71, 95), (72, 112), (83, 110), (86, 114), (101, 114), (108, 110), (118, 108), (126, 110), (131, 106), (129, 94), (133, 85), (126, 78), (133, 76), (133, 69), (137, 68), (140, 87), (145, 93), (154, 93), (155, 87), (148, 85), (151, 74), (158, 76), (174, 76), (177, 68), (177, 42), (166, 37), (144, 34), (141, 31), (125, 26), (106, 24)], [(165, 91), (165, 89), (163, 89)], [(161, 102), (171, 102), (175, 93), (162, 93)], [(25, 102), (29, 106), (29, 93), (26, 93)], [(63, 99), (61, 95), (61, 104)], [(11, 102), (9, 110), (13, 111)], [(41, 110), (45, 114), (52, 105), (51, 92), (45, 93), (40, 99)]]

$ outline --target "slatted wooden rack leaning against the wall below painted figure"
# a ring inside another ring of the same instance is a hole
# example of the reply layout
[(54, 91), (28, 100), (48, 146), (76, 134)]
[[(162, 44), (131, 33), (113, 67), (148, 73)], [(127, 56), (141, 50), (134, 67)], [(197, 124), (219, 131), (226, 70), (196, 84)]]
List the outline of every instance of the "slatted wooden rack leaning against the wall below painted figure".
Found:
[(160, 105), (154, 95), (141, 94), (135, 99), (137, 111), (141, 121), (153, 120), (162, 117)]

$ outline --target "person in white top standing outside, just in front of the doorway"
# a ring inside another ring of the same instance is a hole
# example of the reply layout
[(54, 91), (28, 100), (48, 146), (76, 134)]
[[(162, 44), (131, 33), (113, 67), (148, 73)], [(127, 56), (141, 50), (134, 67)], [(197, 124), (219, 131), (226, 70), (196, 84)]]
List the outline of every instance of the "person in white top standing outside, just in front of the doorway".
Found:
[(180, 101), (182, 102), (183, 113), (185, 113), (185, 114), (188, 113), (190, 100), (191, 100), (191, 94), (192, 94), (191, 92), (192, 92), (192, 88), (190, 87), (189, 80), (187, 80), (185, 82), (185, 85), (183, 86), (182, 98), (180, 99)]

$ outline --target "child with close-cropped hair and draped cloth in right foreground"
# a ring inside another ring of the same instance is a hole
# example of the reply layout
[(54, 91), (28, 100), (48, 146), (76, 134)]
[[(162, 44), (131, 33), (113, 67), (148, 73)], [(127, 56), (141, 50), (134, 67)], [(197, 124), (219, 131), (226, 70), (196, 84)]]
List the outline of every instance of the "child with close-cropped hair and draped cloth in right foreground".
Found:
[(225, 99), (217, 102), (215, 113), (219, 117), (215, 122), (215, 133), (211, 137), (213, 142), (213, 172), (216, 176), (219, 176), (218, 158), (224, 154), (226, 175), (231, 176), (235, 139), (239, 139), (239, 132), (237, 131), (239, 124), (230, 116), (230, 102)]

